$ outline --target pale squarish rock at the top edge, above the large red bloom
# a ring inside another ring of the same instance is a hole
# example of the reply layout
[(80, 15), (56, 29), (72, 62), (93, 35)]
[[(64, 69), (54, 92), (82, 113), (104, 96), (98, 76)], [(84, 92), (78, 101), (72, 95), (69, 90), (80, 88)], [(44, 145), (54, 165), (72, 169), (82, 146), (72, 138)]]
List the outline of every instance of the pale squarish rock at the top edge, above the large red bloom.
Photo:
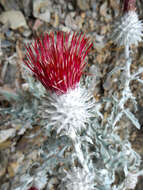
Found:
[(35, 0), (33, 1), (33, 15), (45, 22), (50, 22), (51, 18), (51, 1)]

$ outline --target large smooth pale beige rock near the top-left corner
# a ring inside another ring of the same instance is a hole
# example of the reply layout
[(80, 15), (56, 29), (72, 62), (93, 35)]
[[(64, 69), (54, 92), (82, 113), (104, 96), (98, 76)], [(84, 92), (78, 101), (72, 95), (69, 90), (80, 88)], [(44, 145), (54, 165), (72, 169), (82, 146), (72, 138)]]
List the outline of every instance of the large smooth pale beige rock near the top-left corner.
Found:
[(10, 28), (15, 30), (19, 27), (28, 28), (26, 20), (20, 11), (6, 11), (0, 15), (0, 22), (3, 24), (9, 24)]

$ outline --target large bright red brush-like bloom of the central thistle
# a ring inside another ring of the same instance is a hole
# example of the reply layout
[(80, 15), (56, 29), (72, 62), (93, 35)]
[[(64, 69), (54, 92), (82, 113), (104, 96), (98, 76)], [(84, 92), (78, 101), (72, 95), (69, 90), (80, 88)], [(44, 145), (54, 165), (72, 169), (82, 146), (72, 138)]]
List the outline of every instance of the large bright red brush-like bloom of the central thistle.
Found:
[(88, 38), (81, 34), (46, 34), (26, 48), (24, 62), (47, 90), (64, 94), (79, 83), (91, 47)]

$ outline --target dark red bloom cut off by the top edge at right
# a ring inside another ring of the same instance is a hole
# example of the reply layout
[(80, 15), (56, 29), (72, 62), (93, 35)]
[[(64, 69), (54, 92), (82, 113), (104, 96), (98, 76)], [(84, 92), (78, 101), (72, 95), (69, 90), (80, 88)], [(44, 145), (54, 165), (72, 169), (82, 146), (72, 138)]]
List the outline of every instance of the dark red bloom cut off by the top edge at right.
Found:
[(136, 0), (124, 0), (124, 12), (135, 11)]

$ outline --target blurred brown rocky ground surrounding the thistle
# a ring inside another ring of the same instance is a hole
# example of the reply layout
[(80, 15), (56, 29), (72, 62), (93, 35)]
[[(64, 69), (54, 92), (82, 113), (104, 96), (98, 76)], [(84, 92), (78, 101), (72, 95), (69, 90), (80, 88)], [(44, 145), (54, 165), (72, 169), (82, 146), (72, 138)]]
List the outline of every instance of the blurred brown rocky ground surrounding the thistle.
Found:
[[(107, 80), (107, 73), (114, 65), (124, 63), (123, 48), (117, 48), (110, 37), (112, 24), (122, 15), (121, 5), (122, 0), (0, 0), (0, 190), (14, 190), (12, 180), (19, 169), (24, 171), (25, 166), (39, 161), (38, 150), (45, 141), (38, 121), (22, 131), (25, 124), (20, 118), (15, 124), (10, 122), (9, 114), (2, 113), (3, 108), (15, 106), (14, 98), (9, 97), (8, 101), (8, 96), (16, 97), (18, 91), (26, 88), (22, 70), (24, 44), (51, 31), (87, 34), (94, 44), (88, 63), (96, 67), (95, 98), (100, 100), (122, 88), (118, 83), (120, 73), (113, 76), (114, 80)], [(143, 19), (143, 0), (137, 1), (137, 7)], [(132, 71), (135, 71), (143, 66), (143, 43), (133, 47), (133, 51)], [(143, 125), (143, 86), (134, 82), (131, 88), (138, 101), (136, 116)], [(124, 128), (126, 124), (122, 125)], [(131, 125), (130, 141), (143, 158), (143, 129), (139, 131)], [(56, 183), (52, 178), (49, 189), (56, 189)], [(136, 190), (142, 189), (143, 177), (140, 177)]]

